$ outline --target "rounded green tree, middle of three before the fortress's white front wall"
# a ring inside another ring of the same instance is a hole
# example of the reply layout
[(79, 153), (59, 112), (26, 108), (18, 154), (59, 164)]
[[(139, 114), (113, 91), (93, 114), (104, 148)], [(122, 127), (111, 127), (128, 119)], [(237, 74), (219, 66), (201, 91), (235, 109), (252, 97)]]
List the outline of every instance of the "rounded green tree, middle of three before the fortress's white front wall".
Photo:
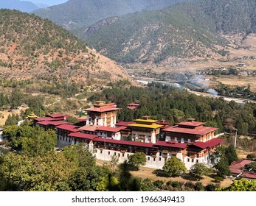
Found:
[(171, 157), (165, 161), (163, 170), (169, 177), (179, 177), (186, 171), (186, 167), (177, 157)]

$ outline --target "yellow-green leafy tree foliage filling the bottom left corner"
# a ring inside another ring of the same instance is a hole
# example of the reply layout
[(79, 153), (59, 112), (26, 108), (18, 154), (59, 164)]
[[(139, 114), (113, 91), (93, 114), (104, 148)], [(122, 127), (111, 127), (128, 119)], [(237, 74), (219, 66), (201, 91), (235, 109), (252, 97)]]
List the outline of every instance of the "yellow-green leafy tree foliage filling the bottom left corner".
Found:
[(74, 170), (75, 164), (62, 152), (44, 157), (9, 152), (0, 164), (0, 173), (6, 182), (4, 191), (69, 190), (66, 182)]

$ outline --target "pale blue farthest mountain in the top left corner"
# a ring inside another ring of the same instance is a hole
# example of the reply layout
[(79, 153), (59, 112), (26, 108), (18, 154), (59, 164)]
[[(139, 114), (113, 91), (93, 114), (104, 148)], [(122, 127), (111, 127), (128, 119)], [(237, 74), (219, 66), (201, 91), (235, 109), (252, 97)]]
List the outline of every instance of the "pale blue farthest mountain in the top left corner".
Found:
[(20, 10), (22, 12), (30, 13), (33, 10), (37, 10), (38, 8), (39, 7), (31, 3), (30, 1), (19, 1), (19, 0), (0, 1), (0, 9)]

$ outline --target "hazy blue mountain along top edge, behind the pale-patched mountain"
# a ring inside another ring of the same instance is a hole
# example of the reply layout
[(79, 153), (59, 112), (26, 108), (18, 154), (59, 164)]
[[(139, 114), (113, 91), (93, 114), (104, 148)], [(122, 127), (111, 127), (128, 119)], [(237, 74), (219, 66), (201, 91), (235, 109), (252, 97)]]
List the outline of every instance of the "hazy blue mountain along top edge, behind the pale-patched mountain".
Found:
[(69, 0), (64, 4), (35, 10), (66, 29), (90, 26), (103, 18), (142, 10), (159, 10), (182, 1), (195, 0)]

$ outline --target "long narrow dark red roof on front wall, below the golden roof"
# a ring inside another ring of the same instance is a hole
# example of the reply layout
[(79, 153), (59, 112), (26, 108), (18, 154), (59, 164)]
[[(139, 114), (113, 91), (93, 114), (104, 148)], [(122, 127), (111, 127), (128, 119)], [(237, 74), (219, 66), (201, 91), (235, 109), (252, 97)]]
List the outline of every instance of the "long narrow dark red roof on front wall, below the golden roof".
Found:
[(153, 146), (153, 143), (144, 143), (144, 142), (138, 142), (138, 141), (117, 141), (107, 138), (95, 138), (95, 142), (102, 142), (102, 143), (116, 143), (116, 144), (122, 144), (122, 145), (128, 145), (128, 146), (141, 146), (141, 147), (148, 147), (157, 149), (157, 147)]

